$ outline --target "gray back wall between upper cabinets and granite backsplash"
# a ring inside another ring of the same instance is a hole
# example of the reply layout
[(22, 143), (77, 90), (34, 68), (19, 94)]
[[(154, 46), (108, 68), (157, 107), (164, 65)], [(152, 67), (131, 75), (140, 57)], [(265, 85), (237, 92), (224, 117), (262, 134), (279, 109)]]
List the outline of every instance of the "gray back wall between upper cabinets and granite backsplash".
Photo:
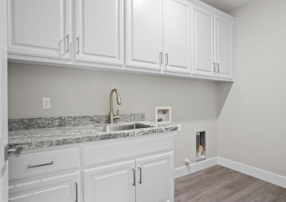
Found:
[[(217, 156), (217, 83), (210, 81), (8, 63), (8, 116), (108, 114), (113, 88), (120, 113), (144, 112), (155, 121), (155, 106), (172, 106), (172, 124), (182, 124), (175, 168), (185, 166), (185, 158), (195, 163), (196, 130), (207, 130), (207, 158)], [(42, 97), (51, 98), (51, 109), (42, 109)]]

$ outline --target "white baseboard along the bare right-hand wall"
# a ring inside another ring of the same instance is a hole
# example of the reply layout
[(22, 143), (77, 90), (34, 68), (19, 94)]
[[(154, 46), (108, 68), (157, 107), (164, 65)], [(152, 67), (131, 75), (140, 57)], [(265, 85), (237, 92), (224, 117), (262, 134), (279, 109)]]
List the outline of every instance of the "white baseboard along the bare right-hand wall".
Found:
[(245, 173), (247, 175), (286, 188), (286, 177), (276, 175), (274, 173), (267, 172), (258, 168), (253, 168), (251, 166), (247, 166), (242, 163), (231, 161), (225, 158), (217, 157), (217, 159), (218, 159), (218, 164), (221, 166), (236, 170), (238, 172)]

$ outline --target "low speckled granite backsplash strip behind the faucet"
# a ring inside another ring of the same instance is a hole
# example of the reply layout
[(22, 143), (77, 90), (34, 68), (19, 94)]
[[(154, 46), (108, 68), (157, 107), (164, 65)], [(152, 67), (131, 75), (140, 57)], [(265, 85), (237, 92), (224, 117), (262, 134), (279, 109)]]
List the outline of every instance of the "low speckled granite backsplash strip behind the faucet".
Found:
[[(120, 114), (119, 116), (119, 119), (114, 120), (115, 123), (145, 120), (144, 113)], [(8, 119), (8, 130), (84, 126), (91, 124), (106, 124), (108, 122), (109, 115)]]

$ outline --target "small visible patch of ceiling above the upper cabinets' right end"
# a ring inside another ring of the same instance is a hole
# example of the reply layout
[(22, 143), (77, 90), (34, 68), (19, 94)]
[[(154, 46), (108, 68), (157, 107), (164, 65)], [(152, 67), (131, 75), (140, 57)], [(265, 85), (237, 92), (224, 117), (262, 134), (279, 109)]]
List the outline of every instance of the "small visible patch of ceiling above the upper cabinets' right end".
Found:
[(252, 0), (201, 0), (201, 1), (221, 11), (229, 13), (230, 11), (233, 11), (243, 6), (244, 4), (247, 4)]

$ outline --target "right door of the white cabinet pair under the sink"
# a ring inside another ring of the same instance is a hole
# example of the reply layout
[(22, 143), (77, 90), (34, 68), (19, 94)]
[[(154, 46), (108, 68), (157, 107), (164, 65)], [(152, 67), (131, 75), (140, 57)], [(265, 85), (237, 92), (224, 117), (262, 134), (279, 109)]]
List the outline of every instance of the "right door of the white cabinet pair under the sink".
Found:
[(173, 152), (136, 159), (136, 202), (174, 201)]

